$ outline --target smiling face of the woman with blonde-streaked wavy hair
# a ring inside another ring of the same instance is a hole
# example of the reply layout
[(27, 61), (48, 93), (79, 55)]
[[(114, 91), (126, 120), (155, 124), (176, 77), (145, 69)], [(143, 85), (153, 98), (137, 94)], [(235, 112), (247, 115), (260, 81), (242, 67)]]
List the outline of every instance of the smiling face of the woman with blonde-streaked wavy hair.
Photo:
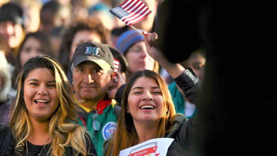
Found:
[(60, 100), (54, 77), (53, 70), (36, 68), (24, 80), (24, 102), (30, 119), (49, 119), (57, 109)]

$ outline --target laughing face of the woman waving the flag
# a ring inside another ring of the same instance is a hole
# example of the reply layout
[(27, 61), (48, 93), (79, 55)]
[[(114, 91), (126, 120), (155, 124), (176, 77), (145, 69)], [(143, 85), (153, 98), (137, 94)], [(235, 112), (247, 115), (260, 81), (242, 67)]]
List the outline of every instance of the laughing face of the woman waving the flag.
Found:
[(137, 122), (156, 122), (164, 111), (164, 100), (156, 80), (142, 76), (132, 86), (128, 95), (127, 109)]

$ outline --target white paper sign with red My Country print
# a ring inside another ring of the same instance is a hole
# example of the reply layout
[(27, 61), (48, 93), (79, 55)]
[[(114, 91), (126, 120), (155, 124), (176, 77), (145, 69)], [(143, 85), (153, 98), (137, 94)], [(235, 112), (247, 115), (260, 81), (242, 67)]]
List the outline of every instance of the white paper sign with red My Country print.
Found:
[(172, 138), (158, 138), (121, 150), (119, 156), (166, 156)]

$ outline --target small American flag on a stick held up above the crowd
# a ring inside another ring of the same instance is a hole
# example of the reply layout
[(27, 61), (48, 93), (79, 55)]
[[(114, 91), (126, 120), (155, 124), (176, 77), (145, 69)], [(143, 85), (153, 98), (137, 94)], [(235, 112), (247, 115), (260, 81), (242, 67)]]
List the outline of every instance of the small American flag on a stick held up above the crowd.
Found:
[(110, 12), (131, 26), (145, 19), (152, 11), (141, 0), (126, 0)]

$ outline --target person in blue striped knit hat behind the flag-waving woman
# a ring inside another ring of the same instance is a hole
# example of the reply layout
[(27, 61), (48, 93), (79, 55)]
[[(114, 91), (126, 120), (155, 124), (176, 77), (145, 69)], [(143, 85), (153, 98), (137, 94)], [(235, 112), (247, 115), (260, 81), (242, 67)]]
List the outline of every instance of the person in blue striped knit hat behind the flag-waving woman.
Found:
[(127, 80), (133, 73), (144, 69), (159, 72), (159, 64), (147, 54), (141, 33), (135, 30), (122, 33), (118, 38), (116, 48), (126, 57), (129, 64)]

